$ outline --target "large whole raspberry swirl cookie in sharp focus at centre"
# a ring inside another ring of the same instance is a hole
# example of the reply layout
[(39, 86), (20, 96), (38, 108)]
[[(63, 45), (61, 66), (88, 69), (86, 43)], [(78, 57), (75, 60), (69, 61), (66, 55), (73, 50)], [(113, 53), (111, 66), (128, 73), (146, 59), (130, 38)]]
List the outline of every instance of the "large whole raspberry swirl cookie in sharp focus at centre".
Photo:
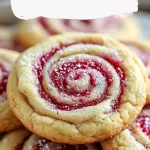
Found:
[(54, 36), (22, 53), (8, 81), (12, 110), (32, 132), (85, 144), (128, 127), (147, 95), (140, 59), (98, 34)]

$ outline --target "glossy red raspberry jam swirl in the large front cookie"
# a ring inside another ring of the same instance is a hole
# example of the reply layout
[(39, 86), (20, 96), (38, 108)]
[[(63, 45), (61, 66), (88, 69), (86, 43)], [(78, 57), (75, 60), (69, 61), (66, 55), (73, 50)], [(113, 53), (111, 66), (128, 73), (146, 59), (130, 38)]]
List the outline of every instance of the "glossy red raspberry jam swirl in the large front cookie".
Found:
[[(63, 51), (69, 46), (74, 45), (86, 45), (93, 43), (72, 43), (68, 45), (62, 45), (60, 47), (52, 48), (48, 53), (43, 54), (35, 63), (33, 67), (33, 72), (35, 77), (37, 78), (37, 86), (38, 92), (41, 98), (50, 102), (55, 106), (55, 108), (65, 111), (81, 109), (83, 107), (95, 106), (104, 100), (108, 99), (111, 96), (112, 88), (114, 86), (114, 76), (109, 70), (109, 64), (112, 69), (115, 71), (120, 84), (118, 85), (118, 94), (112, 100), (111, 111), (115, 111), (119, 108), (121, 102), (121, 95), (123, 94), (125, 88), (125, 74), (123, 69), (121, 68), (122, 61), (116, 59), (115, 57), (110, 56), (96, 56), (98, 59), (93, 59), (93, 55), (89, 55), (88, 59), (76, 60), (63, 62), (61, 65), (59, 62), (55, 64), (55, 68), (53, 66), (47, 71), (49, 79), (52, 82), (54, 88), (60, 93), (70, 97), (70, 102), (60, 100), (62, 98), (56, 98), (53, 96), (53, 93), (47, 93), (45, 91), (43, 80), (44, 74), (43, 69), (44, 66), (48, 63), (49, 60), (53, 57), (53, 55), (58, 51)], [(98, 44), (93, 44), (98, 45)], [(82, 56), (83, 54), (81, 54)], [(85, 56), (85, 55), (84, 55)], [(69, 56), (70, 57), (70, 56)], [(72, 56), (71, 56), (72, 57)], [(91, 57), (91, 59), (90, 59)], [(117, 57), (117, 56), (116, 56)], [(104, 61), (104, 63), (103, 63)], [(84, 80), (83, 83), (81, 83)], [(47, 82), (47, 81), (46, 81)], [(47, 83), (46, 83), (47, 84)], [(100, 91), (97, 92), (97, 97), (90, 98), (90, 94), (94, 91), (94, 89), (99, 88)], [(102, 91), (101, 91), (102, 90)], [(115, 89), (116, 90), (116, 89)], [(72, 101), (75, 99), (74, 101)]]

